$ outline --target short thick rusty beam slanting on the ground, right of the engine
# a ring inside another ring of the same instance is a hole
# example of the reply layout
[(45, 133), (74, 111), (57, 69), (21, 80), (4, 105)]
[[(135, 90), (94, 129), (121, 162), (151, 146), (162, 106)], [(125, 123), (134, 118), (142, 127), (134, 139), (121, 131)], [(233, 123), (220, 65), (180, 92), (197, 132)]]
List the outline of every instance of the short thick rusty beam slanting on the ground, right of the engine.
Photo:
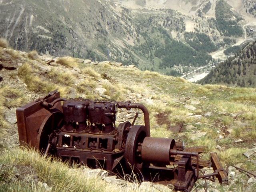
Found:
[(228, 176), (225, 170), (223, 169), (222, 164), (220, 164), (218, 160), (217, 153), (211, 152), (211, 161), (212, 161), (212, 168), (214, 172), (218, 172), (216, 177), (218, 178), (220, 184), (228, 185)]

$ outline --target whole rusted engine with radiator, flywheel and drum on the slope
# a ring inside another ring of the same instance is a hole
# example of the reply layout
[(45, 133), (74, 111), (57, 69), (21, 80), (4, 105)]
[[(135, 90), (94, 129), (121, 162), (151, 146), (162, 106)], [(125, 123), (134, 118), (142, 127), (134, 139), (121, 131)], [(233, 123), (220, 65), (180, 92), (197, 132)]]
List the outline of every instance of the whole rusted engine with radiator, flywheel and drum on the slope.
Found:
[[(63, 105), (62, 105), (63, 102)], [(116, 127), (119, 108), (138, 108), (144, 125), (134, 121)], [(145, 106), (131, 102), (60, 98), (55, 90), (16, 110), (20, 144), (70, 163), (103, 168), (111, 173), (131, 174), (143, 180), (173, 184), (190, 191), (199, 176), (197, 152), (176, 150), (175, 140), (150, 137), (149, 114)], [(182, 155), (178, 162), (176, 155)], [(192, 156), (196, 163), (192, 166)], [(210, 176), (219, 175), (223, 168)], [(122, 170), (122, 171), (121, 171)]]

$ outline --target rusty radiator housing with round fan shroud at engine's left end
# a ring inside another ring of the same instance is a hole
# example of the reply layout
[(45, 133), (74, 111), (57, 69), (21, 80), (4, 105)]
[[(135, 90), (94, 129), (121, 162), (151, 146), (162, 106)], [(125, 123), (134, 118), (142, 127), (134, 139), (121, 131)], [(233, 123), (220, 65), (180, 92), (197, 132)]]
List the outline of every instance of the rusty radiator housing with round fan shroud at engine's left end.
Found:
[[(62, 118), (60, 102), (52, 108), (45, 108), (42, 102), (52, 102), (60, 98), (60, 93), (54, 90), (43, 98), (31, 102), (16, 110), (20, 145), (29, 144), (37, 150), (47, 146), (48, 134)], [(44, 144), (46, 143), (46, 145)]]

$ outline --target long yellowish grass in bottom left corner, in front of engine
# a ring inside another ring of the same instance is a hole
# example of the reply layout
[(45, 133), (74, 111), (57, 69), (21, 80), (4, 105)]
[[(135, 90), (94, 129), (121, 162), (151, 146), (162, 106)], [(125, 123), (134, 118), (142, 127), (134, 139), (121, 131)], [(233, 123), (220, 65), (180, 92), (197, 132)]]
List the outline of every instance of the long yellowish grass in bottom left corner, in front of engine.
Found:
[[(26, 148), (5, 150), (0, 156), (0, 164), (7, 168), (0, 175), (0, 179), (5, 181), (0, 185), (0, 191), (6, 191), (6, 189), (8, 191), (45, 191), (42, 183), (46, 183), (54, 192), (118, 191), (118, 187), (112, 184), (108, 184), (106, 187), (106, 182), (98, 176), (89, 177), (82, 169), (69, 168), (67, 164), (51, 158), (43, 158), (38, 152)], [(37, 180), (26, 180), (22, 176), (19, 180), (15, 180), (15, 170), (19, 167), (32, 168)]]

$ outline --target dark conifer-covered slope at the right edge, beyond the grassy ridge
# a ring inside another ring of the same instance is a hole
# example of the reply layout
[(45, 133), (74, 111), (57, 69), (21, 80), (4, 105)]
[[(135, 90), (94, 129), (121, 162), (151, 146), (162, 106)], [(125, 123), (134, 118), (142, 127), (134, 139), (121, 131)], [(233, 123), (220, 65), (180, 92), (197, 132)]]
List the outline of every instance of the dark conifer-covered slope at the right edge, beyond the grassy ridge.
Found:
[(233, 47), (232, 50), (238, 53), (225, 62), (220, 63), (198, 83), (226, 84), (233, 87), (255, 87), (256, 42), (249, 43), (243, 49)]

